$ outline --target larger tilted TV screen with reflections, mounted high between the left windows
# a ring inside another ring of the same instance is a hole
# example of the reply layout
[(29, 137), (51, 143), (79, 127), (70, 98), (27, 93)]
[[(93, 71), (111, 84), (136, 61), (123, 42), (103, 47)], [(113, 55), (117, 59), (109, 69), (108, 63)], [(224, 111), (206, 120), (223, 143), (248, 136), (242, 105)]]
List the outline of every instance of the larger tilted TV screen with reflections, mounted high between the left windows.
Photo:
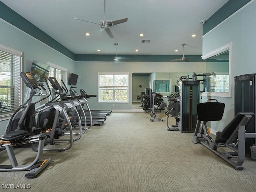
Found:
[(48, 78), (49, 70), (49, 65), (33, 61), (31, 67), (31, 74), (34, 76), (37, 82), (44, 82), (44, 77), (46, 78), (46, 80)]

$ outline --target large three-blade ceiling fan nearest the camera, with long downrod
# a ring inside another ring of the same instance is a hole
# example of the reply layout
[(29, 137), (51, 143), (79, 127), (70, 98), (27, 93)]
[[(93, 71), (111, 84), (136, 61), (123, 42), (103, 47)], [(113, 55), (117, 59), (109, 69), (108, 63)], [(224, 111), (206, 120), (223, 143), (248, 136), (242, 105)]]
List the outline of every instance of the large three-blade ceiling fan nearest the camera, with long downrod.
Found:
[(116, 21), (106, 20), (106, 0), (104, 0), (104, 20), (101, 20), (100, 24), (82, 20), (82, 19), (78, 19), (78, 18), (74, 18), (74, 19), (80, 20), (80, 21), (85, 21), (88, 23), (93, 23), (96, 25), (100, 25), (100, 27), (103, 28), (107, 32), (107, 34), (110, 36), (110, 38), (114, 38), (114, 36), (113, 36), (112, 32), (110, 31), (109, 27), (113, 26), (113, 25), (120, 24), (120, 23), (124, 23), (128, 20), (128, 18), (124, 18), (124, 19), (120, 19), (120, 20), (116, 20)]

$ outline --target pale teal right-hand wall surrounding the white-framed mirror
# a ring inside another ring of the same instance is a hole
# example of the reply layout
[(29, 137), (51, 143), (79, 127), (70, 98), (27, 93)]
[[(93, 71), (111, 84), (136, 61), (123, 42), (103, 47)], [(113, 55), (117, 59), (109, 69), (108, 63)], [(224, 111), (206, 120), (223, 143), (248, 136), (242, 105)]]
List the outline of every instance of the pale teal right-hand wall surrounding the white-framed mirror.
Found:
[[(203, 36), (203, 55), (232, 42), (231, 98), (216, 97), (226, 104), (220, 122), (212, 122), (211, 128), (221, 131), (234, 117), (234, 76), (256, 72), (256, 1), (250, 1), (228, 20)], [(207, 97), (203, 98), (206, 101)]]

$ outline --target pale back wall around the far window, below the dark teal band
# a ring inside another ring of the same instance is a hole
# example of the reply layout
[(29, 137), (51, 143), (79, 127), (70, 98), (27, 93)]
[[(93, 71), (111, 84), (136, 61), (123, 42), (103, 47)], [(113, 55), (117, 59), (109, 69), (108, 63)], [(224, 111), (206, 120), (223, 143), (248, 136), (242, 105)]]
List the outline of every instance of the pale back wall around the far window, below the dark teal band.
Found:
[[(98, 95), (98, 72), (129, 72), (129, 103), (127, 104), (98, 104), (98, 98), (90, 98), (92, 109), (132, 109), (132, 73), (187, 73), (206, 71), (205, 62), (76, 62), (78, 87), (87, 94)], [(159, 78), (158, 78), (159, 79)]]

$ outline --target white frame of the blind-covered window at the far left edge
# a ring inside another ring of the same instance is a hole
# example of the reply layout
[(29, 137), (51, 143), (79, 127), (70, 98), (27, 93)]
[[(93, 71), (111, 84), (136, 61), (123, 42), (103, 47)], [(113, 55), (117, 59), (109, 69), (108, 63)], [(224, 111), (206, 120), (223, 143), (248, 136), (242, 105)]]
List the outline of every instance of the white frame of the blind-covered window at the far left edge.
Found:
[(9, 119), (15, 110), (18, 109), (18, 107), (22, 104), (22, 79), (20, 77), (20, 72), (22, 70), (22, 55), (23, 53), (21, 51), (15, 50), (13, 48), (4, 46), (0, 44), (0, 50), (2, 52), (6, 52), (8, 54), (12, 54), (15, 56), (20, 57), (20, 66), (16, 66), (16, 68), (13, 70), (13, 86), (0, 86), (0, 88), (14, 88), (13, 94), (14, 99), (11, 101), (13, 103), (12, 110), (10, 113), (0, 114), (0, 120), (7, 120)]

